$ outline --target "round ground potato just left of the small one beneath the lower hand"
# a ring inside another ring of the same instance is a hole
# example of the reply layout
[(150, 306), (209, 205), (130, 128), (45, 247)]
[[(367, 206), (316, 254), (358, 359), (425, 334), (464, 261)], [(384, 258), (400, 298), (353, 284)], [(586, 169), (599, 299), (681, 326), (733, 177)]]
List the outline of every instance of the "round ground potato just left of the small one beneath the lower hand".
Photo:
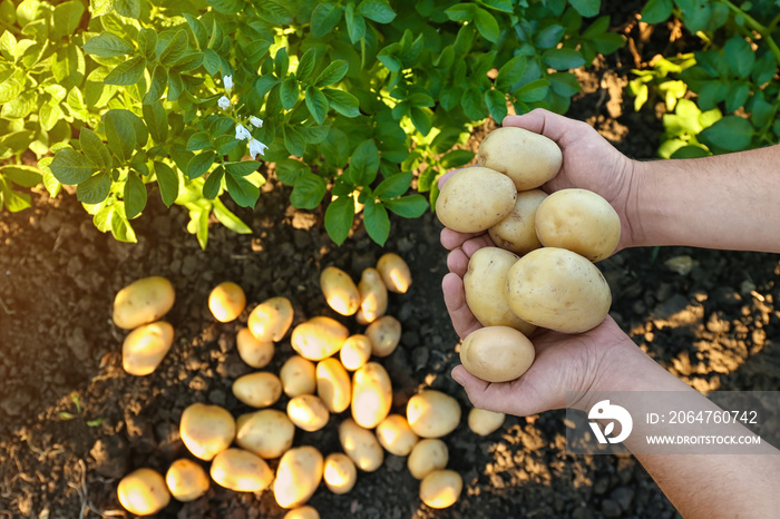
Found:
[(407, 402), (407, 420), (418, 437), (441, 438), (460, 423), (460, 405), (441, 391), (420, 391)]

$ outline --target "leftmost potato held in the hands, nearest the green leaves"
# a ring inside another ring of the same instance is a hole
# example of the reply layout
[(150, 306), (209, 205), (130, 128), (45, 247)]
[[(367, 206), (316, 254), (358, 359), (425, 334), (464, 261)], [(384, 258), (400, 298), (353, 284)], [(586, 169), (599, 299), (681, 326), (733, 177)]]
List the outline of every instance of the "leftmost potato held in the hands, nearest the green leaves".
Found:
[(506, 175), (485, 167), (456, 172), (436, 199), (439, 222), (460, 233), (487, 231), (515, 208), (515, 189)]

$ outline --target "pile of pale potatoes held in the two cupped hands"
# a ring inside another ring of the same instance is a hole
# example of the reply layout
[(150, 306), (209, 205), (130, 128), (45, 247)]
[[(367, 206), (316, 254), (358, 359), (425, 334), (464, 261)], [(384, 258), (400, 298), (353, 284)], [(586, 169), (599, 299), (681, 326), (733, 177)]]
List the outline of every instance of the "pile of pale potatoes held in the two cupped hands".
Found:
[(487, 232), (495, 244), (471, 255), (464, 276), (466, 303), (485, 327), (464, 340), (460, 360), (482, 380), (506, 382), (534, 362), (527, 335), (536, 327), (582, 333), (604, 321), (612, 294), (594, 263), (617, 247), (621, 221), (596, 193), (539, 189), (563, 163), (547, 137), (499, 128), (477, 161), (445, 183), (436, 213), (447, 227)]

